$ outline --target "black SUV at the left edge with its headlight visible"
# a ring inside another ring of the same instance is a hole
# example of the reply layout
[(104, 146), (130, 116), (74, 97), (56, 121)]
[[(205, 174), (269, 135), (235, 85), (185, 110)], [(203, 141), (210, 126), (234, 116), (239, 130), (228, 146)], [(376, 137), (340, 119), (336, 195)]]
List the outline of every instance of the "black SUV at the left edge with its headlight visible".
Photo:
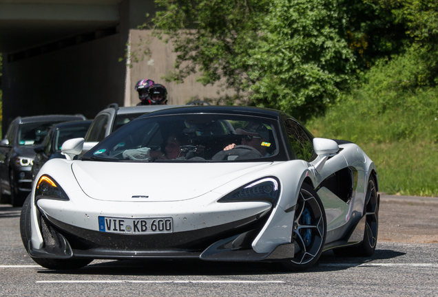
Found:
[(0, 142), (0, 203), (22, 206), (32, 190), (34, 146), (59, 122), (86, 120), (83, 115), (36, 115), (13, 120)]

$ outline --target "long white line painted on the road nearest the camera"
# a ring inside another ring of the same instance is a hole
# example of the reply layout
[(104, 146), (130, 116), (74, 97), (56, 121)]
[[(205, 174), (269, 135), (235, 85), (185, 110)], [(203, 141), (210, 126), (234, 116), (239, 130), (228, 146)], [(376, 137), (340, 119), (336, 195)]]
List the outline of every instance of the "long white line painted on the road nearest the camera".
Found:
[(36, 281), (35, 283), (286, 283), (284, 281)]

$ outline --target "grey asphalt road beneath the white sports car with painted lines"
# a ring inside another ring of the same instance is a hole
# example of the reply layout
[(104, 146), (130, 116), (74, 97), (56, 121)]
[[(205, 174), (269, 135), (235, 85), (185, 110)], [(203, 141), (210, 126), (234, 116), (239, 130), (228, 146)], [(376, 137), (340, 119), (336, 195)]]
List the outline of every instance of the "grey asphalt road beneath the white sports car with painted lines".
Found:
[(59, 272), (30, 259), (20, 209), (0, 205), (0, 296), (438, 296), (437, 211), (438, 199), (382, 196), (371, 258), (324, 252), (301, 273), (203, 261), (93, 261)]

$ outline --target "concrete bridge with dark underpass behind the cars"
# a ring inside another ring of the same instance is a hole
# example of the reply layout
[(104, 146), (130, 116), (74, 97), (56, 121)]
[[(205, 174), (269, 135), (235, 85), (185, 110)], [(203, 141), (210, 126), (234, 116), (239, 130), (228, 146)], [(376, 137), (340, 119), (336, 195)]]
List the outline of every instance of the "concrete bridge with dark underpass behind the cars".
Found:
[[(139, 102), (135, 83), (160, 76), (174, 65), (171, 45), (138, 25), (154, 14), (154, 0), (0, 0), (0, 53), (3, 54), (3, 135), (18, 115), (82, 113), (87, 118), (116, 102)], [(127, 50), (149, 41), (152, 52), (127, 67)], [(130, 47), (127, 45), (130, 44)], [(195, 76), (165, 84), (169, 104), (193, 96), (215, 96)]]

